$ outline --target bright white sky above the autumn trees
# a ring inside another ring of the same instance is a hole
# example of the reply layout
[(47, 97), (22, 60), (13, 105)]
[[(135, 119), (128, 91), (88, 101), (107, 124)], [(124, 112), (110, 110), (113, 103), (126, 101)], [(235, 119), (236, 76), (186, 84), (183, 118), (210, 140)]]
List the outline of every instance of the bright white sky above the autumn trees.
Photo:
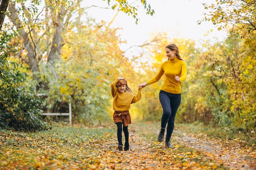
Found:
[[(140, 0), (139, 0), (140, 1)], [(133, 2), (129, 0), (128, 2)], [(188, 38), (200, 43), (201, 40), (223, 40), (227, 35), (225, 31), (218, 31), (211, 22), (202, 22), (204, 9), (202, 3), (216, 3), (216, 0), (146, 0), (151, 8), (155, 10), (153, 16), (146, 15), (143, 7), (138, 9), (138, 24), (135, 19), (123, 12), (119, 12), (113, 25), (122, 27), (119, 31), (121, 39), (126, 40), (127, 44), (121, 44), (120, 48), (126, 51), (131, 46), (141, 45), (150, 40), (152, 34), (157, 32), (166, 32), (170, 39), (172, 38)], [(107, 0), (84, 0), (84, 6), (95, 5), (99, 7), (108, 7)], [(100, 9), (92, 7), (88, 10), (88, 15), (95, 18), (97, 22), (105, 20), (110, 22), (116, 11), (112, 9)], [(212, 32), (208, 33), (210, 30)], [(208, 36), (205, 34), (208, 33)]]

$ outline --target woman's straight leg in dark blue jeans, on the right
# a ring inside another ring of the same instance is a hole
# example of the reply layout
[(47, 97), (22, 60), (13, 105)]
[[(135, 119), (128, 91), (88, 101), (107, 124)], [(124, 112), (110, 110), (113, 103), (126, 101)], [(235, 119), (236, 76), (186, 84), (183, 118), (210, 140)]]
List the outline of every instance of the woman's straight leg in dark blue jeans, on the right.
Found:
[(170, 141), (171, 135), (173, 133), (174, 119), (175, 119), (177, 110), (180, 106), (180, 101), (181, 101), (180, 94), (171, 94), (171, 116), (169, 117), (168, 125), (167, 125), (167, 133), (166, 133), (167, 141)]

